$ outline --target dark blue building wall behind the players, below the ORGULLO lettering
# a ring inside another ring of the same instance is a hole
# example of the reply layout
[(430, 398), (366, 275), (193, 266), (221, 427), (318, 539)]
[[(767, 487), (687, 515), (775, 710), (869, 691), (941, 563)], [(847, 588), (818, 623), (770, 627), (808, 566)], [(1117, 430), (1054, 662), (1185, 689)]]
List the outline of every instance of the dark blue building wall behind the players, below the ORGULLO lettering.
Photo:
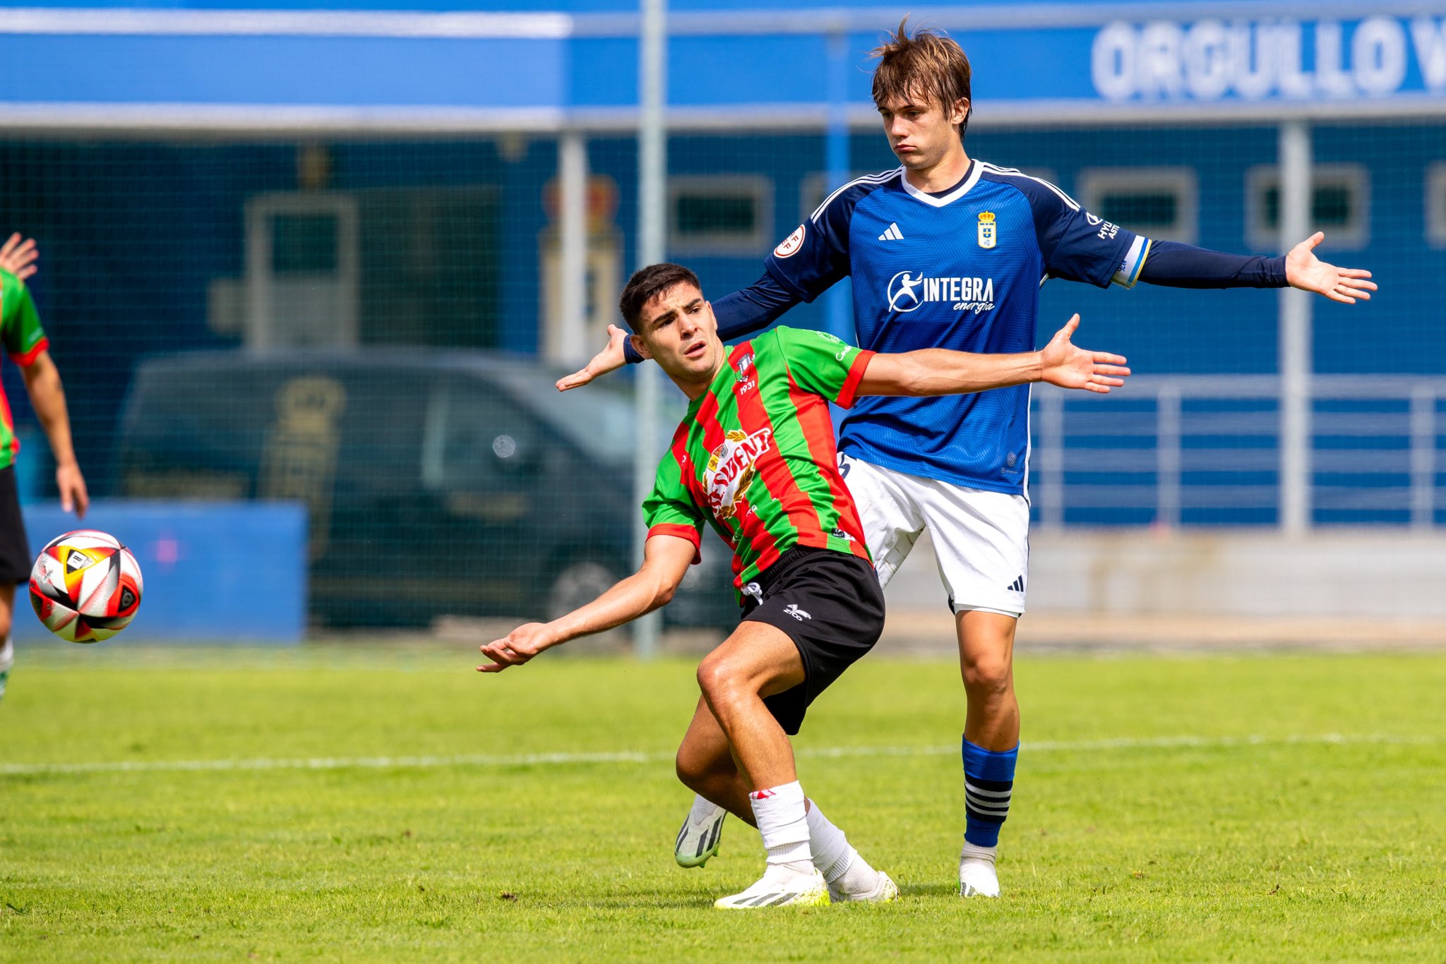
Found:
[[(1199, 181), (1199, 243), (1248, 250), (1245, 182), (1252, 165), (1272, 163), (1274, 127), (1155, 127), (991, 132), (977, 124), (970, 150), (995, 163), (1047, 169), (1074, 191), (1084, 168), (1189, 166)], [(594, 172), (619, 185), (617, 224), (633, 263), (635, 146), (628, 137), (590, 142)], [(55, 357), (71, 389), (80, 454), (107, 491), (113, 421), (130, 370), (146, 354), (234, 345), (207, 327), (207, 288), (243, 270), (243, 208), (249, 197), (296, 189), (296, 146), (163, 145), (130, 142), (0, 143), (0, 227), (39, 238), (33, 282)], [(820, 136), (675, 136), (675, 175), (758, 173), (774, 186), (774, 236), (801, 218), (805, 179), (817, 175)], [(548, 225), (544, 185), (555, 175), (555, 145), (532, 139), (503, 159), (492, 139), (437, 143), (335, 143), (331, 188), (406, 185), (500, 188), (503, 291), (496, 347), (532, 353), (538, 344), (538, 234)], [(1369, 246), (1338, 251), (1371, 267), (1381, 295), (1365, 312), (1316, 302), (1314, 366), (1322, 373), (1442, 373), (1439, 311), (1423, 279), (1440, 277), (1446, 250), (1426, 243), (1424, 176), (1446, 158), (1446, 130), (1433, 124), (1317, 127), (1317, 163), (1352, 162), (1369, 172)], [(892, 155), (879, 134), (856, 133), (852, 166), (885, 169)], [(687, 257), (710, 293), (748, 285), (766, 247), (740, 256)], [(1272, 373), (1274, 292), (1199, 295), (1139, 286), (1093, 291), (1051, 282), (1043, 324), (1080, 311), (1089, 341), (1119, 347), (1137, 371)], [(800, 306), (790, 324), (823, 324), (821, 302)], [(10, 397), (23, 389), (7, 367)], [(43, 448), (39, 447), (39, 448)]]

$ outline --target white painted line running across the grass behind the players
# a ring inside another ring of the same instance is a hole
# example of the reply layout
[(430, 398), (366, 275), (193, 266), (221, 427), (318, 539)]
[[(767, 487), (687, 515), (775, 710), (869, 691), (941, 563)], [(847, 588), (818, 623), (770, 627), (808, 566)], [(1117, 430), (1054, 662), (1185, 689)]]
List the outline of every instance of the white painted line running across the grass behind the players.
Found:
[[(1293, 744), (1395, 744), (1440, 746), (1446, 736), (1371, 734), (1291, 734), (1244, 737), (1119, 737), (1113, 740), (1043, 740), (1024, 743), (1025, 753), (1080, 753), (1092, 750), (1154, 749), (1231, 749)], [(957, 746), (857, 746), (800, 747), (797, 754), (811, 759), (951, 756)], [(348, 770), (348, 769), (437, 769), (437, 767), (518, 767), (574, 766), (586, 763), (665, 763), (672, 753), (521, 753), (515, 756), (331, 756), (311, 759), (226, 759), (226, 760), (103, 760), (94, 763), (0, 763), (0, 776), (62, 773), (156, 773), (156, 772), (240, 772), (240, 770)]]

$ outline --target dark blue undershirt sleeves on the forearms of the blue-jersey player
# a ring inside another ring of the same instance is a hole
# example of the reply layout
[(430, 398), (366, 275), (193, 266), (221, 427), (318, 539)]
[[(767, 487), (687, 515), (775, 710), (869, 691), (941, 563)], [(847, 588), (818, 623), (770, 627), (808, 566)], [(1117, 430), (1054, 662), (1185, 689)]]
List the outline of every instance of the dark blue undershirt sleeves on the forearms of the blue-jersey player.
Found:
[[(1284, 288), (1285, 256), (1226, 254), (1180, 241), (1151, 241), (1139, 280), (1164, 288)], [(803, 299), (763, 272), (742, 291), (713, 302), (719, 337), (733, 341), (766, 328)], [(642, 361), (632, 343), (623, 343), (628, 363)]]

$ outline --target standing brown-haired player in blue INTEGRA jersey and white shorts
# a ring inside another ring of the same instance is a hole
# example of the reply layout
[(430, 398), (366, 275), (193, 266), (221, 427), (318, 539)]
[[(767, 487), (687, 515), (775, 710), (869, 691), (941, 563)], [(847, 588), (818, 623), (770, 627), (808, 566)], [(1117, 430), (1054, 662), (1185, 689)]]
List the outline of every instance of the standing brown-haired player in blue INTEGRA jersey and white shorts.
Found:
[[(1147, 237), (1095, 217), (1053, 184), (969, 156), (972, 71), (963, 49), (907, 20), (873, 51), (873, 101), (899, 166), (852, 181), (766, 259), (763, 276), (717, 302), (724, 340), (852, 277), (857, 343), (975, 353), (1035, 344), (1050, 277), (1099, 288), (1284, 288), (1353, 304), (1369, 272), (1319, 260), (1313, 234), (1280, 257), (1223, 254)], [(560, 389), (623, 364), (623, 332)], [(1019, 743), (1014, 636), (1028, 582), (1030, 387), (940, 399), (866, 399), (840, 426), (840, 470), (863, 506), (881, 582), (928, 529), (954, 614), (967, 710), (962, 757), (964, 896), (998, 896), (995, 856)], [(716, 850), (723, 811), (696, 801), (675, 858)], [(714, 847), (696, 853), (698, 840)]]

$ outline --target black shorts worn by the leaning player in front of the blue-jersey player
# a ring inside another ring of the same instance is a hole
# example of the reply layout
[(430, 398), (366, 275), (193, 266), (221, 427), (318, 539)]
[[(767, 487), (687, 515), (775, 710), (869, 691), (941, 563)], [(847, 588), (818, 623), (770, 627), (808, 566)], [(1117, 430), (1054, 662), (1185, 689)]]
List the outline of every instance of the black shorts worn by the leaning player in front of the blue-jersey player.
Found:
[(804, 681), (763, 698), (792, 736), (808, 705), (843, 671), (873, 649), (884, 632), (884, 588), (868, 559), (831, 549), (794, 546), (745, 590), (745, 623), (768, 623), (794, 640)]

